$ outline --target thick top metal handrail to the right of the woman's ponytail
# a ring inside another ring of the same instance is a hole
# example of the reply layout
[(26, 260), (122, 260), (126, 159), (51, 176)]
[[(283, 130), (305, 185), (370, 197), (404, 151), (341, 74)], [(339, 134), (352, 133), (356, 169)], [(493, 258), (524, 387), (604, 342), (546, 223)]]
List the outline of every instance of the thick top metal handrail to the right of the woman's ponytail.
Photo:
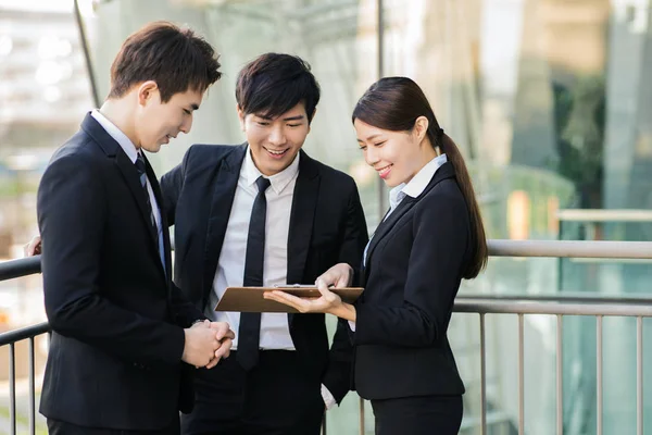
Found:
[(493, 257), (650, 259), (652, 241), (487, 240)]

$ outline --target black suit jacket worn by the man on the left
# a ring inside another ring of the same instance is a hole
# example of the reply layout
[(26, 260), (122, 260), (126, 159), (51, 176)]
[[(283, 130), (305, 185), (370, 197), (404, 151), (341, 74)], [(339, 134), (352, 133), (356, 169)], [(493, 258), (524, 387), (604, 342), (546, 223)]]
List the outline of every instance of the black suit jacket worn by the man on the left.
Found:
[[(147, 173), (162, 207), (149, 163)], [(179, 400), (183, 327), (201, 313), (161, 263), (136, 166), (90, 115), (54, 152), (37, 211), (53, 330), (40, 411), (83, 426), (171, 424), (190, 406)]]

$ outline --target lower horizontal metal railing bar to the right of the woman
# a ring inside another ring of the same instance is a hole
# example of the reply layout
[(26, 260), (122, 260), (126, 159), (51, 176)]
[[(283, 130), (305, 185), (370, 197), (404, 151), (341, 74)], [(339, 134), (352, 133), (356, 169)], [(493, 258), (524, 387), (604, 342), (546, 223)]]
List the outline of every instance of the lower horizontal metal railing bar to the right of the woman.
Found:
[(555, 303), (555, 302), (511, 302), (486, 299), (456, 300), (453, 308), (460, 313), (485, 314), (562, 314), (562, 315), (613, 315), (652, 316), (652, 306), (631, 303)]

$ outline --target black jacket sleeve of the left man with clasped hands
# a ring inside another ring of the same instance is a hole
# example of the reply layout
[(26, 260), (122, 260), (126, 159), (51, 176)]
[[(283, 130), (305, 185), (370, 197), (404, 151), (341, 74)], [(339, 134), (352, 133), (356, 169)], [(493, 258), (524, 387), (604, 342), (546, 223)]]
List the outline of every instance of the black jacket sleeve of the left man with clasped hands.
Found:
[(54, 160), (39, 185), (37, 214), (52, 328), (128, 361), (177, 364), (183, 328), (125, 310), (98, 288), (108, 210), (91, 164), (76, 156)]

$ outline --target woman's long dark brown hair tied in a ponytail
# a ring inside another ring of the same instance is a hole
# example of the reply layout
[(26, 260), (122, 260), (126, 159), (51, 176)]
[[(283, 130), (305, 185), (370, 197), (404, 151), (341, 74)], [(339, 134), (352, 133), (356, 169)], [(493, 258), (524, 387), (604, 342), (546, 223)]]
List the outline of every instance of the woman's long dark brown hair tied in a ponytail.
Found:
[(428, 120), (428, 139), (447, 154), (455, 170), (457, 185), (469, 211), (473, 235), (473, 257), (462, 276), (475, 278), (487, 264), (488, 249), (480, 208), (476, 200), (473, 183), (460, 149), (443, 133), (428, 99), (416, 83), (408, 77), (385, 77), (373, 84), (360, 98), (353, 110), (352, 121), (360, 120), (391, 132), (411, 132), (419, 116)]

